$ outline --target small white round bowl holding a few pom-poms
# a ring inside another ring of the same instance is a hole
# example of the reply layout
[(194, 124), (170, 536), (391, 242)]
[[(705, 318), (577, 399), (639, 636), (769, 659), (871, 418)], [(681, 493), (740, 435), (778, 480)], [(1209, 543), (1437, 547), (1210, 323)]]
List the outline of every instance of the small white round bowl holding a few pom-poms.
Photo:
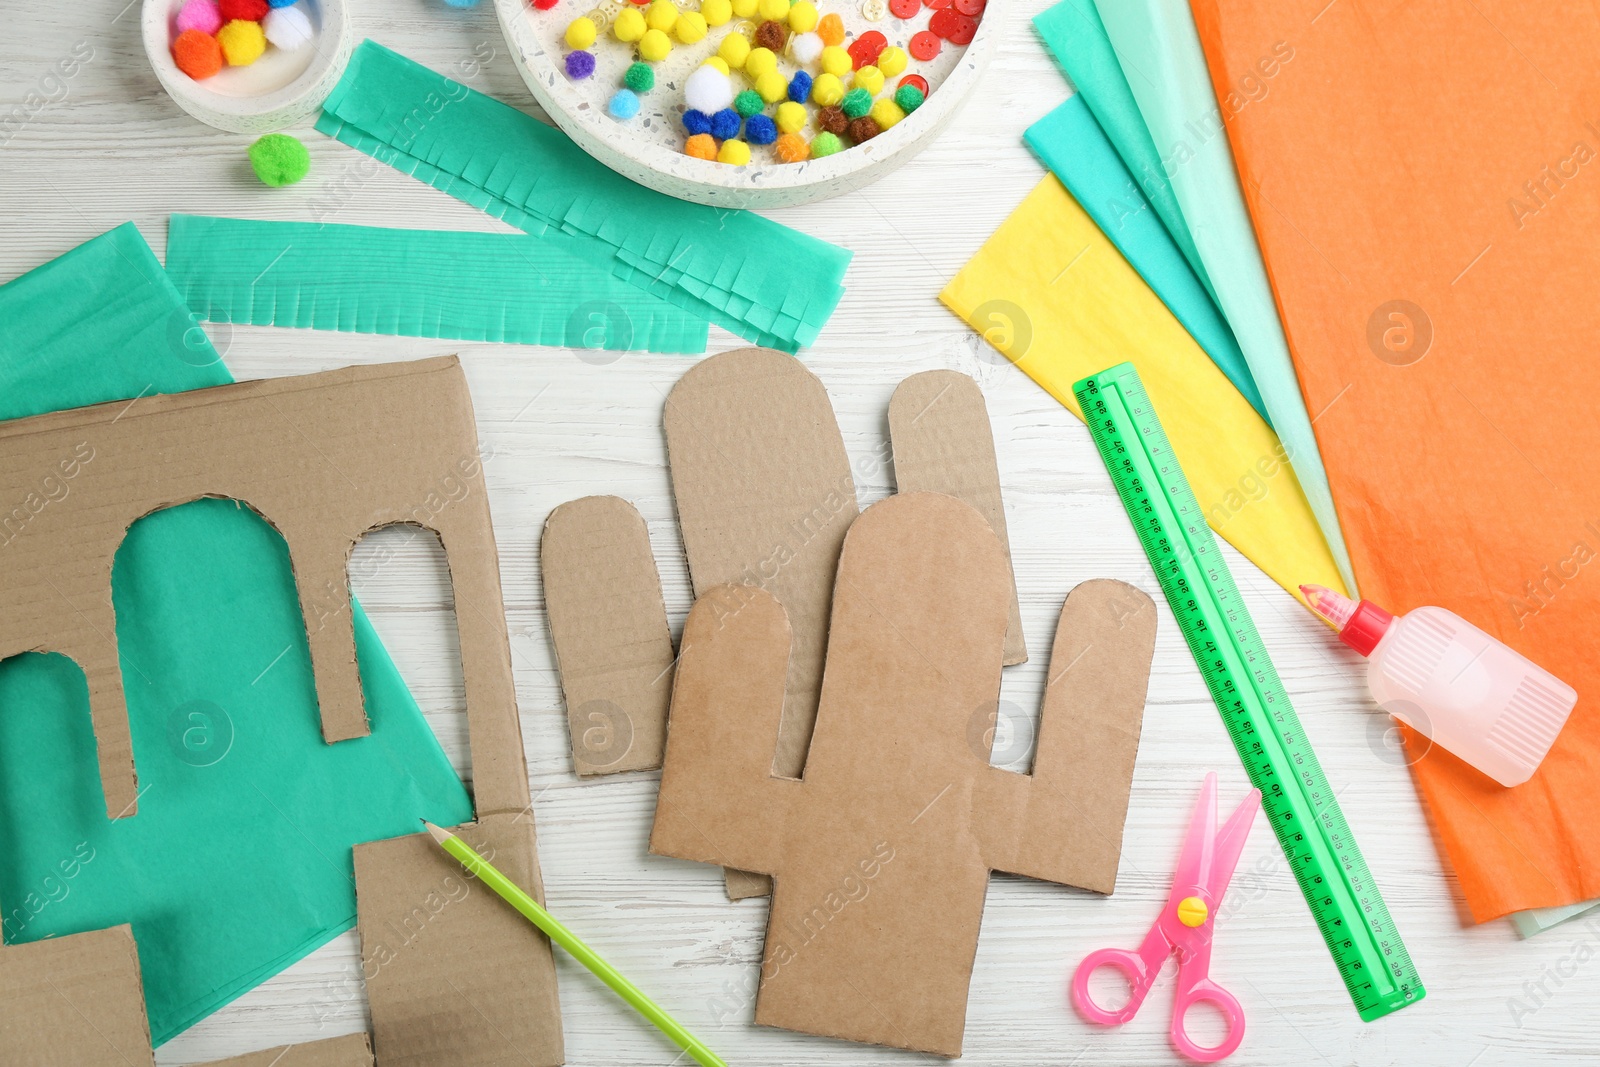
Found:
[(184, 0), (144, 0), (141, 29), (150, 67), (179, 107), (229, 133), (274, 133), (310, 117), (350, 61), (350, 16), (344, 0), (299, 0), (317, 38), (294, 51), (267, 46), (248, 67), (224, 66), (195, 82), (173, 62), (174, 19)]

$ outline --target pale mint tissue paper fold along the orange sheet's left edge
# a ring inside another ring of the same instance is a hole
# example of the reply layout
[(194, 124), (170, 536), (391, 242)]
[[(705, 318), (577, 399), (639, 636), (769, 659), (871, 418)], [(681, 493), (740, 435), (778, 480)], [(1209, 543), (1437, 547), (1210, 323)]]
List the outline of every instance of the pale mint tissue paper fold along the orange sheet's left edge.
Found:
[(1339, 574), (1355, 593), (1350, 552), (1333, 510), (1333, 490), (1317, 451), (1306, 400), (1278, 322), (1267, 267), (1256, 245), (1245, 195), (1234, 170), (1222, 112), (1211, 90), (1200, 32), (1187, 0), (1096, 2), (1123, 77), (1139, 104), (1195, 248), (1206, 266), (1218, 307), (1234, 328), (1250, 376), (1288, 450)]

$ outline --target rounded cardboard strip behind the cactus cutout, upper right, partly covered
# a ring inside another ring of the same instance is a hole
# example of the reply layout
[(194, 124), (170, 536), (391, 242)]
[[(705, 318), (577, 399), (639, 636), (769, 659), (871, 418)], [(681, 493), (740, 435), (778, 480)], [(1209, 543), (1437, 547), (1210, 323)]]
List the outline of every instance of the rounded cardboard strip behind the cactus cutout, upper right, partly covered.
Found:
[[(984, 394), (960, 371), (923, 371), (902, 381), (890, 398), (894, 486), (901, 493), (946, 493), (978, 509), (1000, 539), (1011, 571), (1011, 539), (1000, 499), (1000, 462)], [(1022, 611), (1011, 573), (1011, 616), (1005, 664), (1027, 662)]]

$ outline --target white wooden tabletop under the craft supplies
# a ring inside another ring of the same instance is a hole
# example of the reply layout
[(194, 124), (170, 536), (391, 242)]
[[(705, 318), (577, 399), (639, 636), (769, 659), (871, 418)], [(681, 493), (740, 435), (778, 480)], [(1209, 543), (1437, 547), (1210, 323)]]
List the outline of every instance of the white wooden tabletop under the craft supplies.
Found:
[[(334, 216), (342, 222), (502, 229), (421, 182), (368, 165), (309, 125), (296, 133), (310, 147), (312, 176), (293, 189), (264, 189), (246, 165), (246, 138), (202, 126), (166, 99), (144, 61), (138, 8), (123, 11), (123, 3), (29, 5), (26, 14), (14, 0), (6, 5), (0, 112), (24, 101), (78, 42), (94, 54), (56, 102), (0, 147), (0, 280), (126, 219), (139, 224), (157, 254), (165, 250), (170, 211), (309, 219), (312, 200), (334, 186), (347, 194)], [(771, 213), (856, 253), (850, 293), (805, 357), (834, 398), (858, 470), (872, 462), (864, 458), (880, 454), (890, 392), (902, 378), (955, 368), (981, 382), (1034, 649), (1032, 662), (1006, 672), (1003, 696), (1024, 709), (1037, 707), (1043, 654), (1072, 585), (1120, 577), (1160, 601), (1083, 427), (936, 301), (1043, 173), (1021, 134), (1069, 93), (1027, 22), (1043, 3), (1016, 5), (1003, 54), (954, 128), (920, 158), (862, 192)], [(354, 6), (358, 35), (440, 70), (474, 48), (493, 50), (475, 85), (533, 109), (488, 5), (454, 11), (440, 0), (358, 0)], [(634, 501), (650, 523), (674, 629), (682, 625), (690, 589), (661, 406), (690, 360), (627, 354), (598, 365), (563, 349), (272, 328), (213, 333), (226, 339), (226, 362), (238, 378), (461, 354), (483, 440), (494, 448), (486, 472), (550, 907), (728, 1062), (938, 1062), (754, 1027), (766, 904), (728, 904), (717, 870), (646, 856), (656, 776), (579, 782), (571, 773), (539, 592), (539, 531), (552, 507), (576, 496), (614, 493)], [(739, 344), (712, 330), (714, 349)], [(891, 486), (893, 472), (877, 469), (859, 486), (862, 504)], [(362, 601), (461, 766), (461, 678), (442, 561), (403, 541), (400, 533), (370, 539), (362, 557), (376, 563), (352, 571)], [(1592, 957), (1600, 929), (1562, 928), (1518, 942), (1507, 923), (1464, 923), (1459, 891), (1442, 869), (1410, 776), (1384, 744), (1387, 720), (1365, 697), (1358, 661), (1261, 571), (1227, 552), (1429, 990), (1421, 1005), (1362, 1024), (1277, 843), (1258, 821), (1211, 971), (1238, 995), (1250, 1022), (1230, 1062), (1597, 1062), (1600, 961)], [(1221, 773), (1224, 813), (1246, 789), (1165, 603), (1160, 611), (1117, 893), (1102, 899), (1022, 878), (994, 880), (971, 984), (968, 1062), (1179, 1062), (1166, 1043), (1170, 981), (1134, 1022), (1109, 1032), (1082, 1022), (1064, 995), (1069, 971), (1085, 953), (1133, 947), (1149, 928), (1205, 771)], [(586, 971), (565, 957), (558, 968), (570, 1064), (674, 1059), (674, 1049)], [(158, 1051), (158, 1061), (190, 1064), (363, 1029), (357, 974), (350, 933), (182, 1033)], [(1512, 998), (1531, 1006), (1530, 993), (1542, 1006), (1518, 1019)]]

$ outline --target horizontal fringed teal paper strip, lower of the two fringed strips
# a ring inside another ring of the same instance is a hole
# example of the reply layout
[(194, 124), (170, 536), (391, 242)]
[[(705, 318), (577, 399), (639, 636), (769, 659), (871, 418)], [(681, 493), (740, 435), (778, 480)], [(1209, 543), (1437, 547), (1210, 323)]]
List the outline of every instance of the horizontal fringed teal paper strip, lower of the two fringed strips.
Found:
[(171, 216), (166, 274), (210, 322), (704, 352), (709, 323), (526, 234)]

